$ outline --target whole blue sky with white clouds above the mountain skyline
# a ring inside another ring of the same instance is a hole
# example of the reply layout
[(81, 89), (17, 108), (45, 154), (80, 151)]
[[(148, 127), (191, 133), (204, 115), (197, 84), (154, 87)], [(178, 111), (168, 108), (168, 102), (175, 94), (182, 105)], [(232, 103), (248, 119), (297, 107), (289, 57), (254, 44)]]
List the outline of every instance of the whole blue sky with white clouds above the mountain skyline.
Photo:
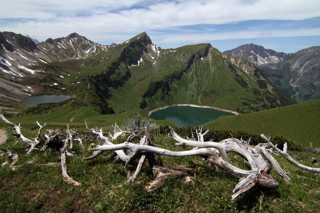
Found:
[(146, 32), (162, 48), (255, 43), (294, 53), (320, 45), (319, 0), (2, 0), (0, 31), (39, 41), (76, 32), (100, 44)]

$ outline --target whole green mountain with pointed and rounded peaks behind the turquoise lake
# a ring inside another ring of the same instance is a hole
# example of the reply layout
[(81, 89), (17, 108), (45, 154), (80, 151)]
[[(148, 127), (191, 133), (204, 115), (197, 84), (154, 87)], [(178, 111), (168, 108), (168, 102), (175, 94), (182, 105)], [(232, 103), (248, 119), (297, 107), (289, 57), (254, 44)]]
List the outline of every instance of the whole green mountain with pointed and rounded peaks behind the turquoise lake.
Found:
[[(252, 63), (206, 43), (164, 50), (152, 44), (146, 33), (95, 56), (44, 68), (51, 76), (37, 80), (42, 92), (69, 94), (82, 102), (81, 107), (102, 114), (185, 103), (245, 113), (291, 103)], [(55, 81), (59, 85), (52, 86)]]

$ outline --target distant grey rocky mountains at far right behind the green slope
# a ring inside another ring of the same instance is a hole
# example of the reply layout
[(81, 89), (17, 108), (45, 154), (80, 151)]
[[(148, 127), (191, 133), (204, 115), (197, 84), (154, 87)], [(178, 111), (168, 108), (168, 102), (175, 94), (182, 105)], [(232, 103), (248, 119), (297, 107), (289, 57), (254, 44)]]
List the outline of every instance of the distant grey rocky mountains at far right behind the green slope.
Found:
[(224, 53), (255, 63), (269, 81), (298, 102), (320, 98), (320, 46), (285, 54), (244, 44)]

